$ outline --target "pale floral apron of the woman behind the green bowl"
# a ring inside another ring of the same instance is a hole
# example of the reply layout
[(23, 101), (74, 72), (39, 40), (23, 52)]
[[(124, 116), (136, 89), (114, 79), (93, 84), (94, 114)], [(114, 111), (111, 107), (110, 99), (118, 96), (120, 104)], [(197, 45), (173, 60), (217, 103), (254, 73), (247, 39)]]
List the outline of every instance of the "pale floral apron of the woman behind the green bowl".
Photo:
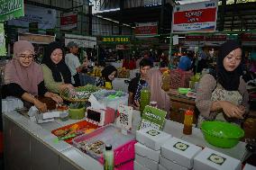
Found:
[[(242, 94), (240, 94), (238, 91), (224, 90), (222, 85), (217, 84), (214, 92), (212, 93), (211, 100), (212, 101), (229, 101), (235, 105), (241, 105), (242, 104)], [(214, 121), (214, 120), (215, 121), (228, 121), (228, 122), (233, 122), (233, 123), (236, 123), (239, 125), (242, 123), (242, 120), (239, 120), (236, 118), (229, 118), (224, 114), (224, 112), (216, 111), (216, 112), (211, 112), (209, 118), (205, 118), (205, 117), (199, 115), (197, 126), (201, 127), (201, 123), (203, 121)]]

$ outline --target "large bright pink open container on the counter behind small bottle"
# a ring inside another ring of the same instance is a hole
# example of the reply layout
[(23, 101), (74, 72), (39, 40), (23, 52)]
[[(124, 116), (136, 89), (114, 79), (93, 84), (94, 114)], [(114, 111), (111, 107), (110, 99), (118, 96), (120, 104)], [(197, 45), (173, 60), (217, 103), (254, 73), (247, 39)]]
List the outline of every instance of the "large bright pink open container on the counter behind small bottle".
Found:
[[(81, 142), (86, 141), (88, 145), (95, 144), (97, 141), (101, 141), (104, 144), (99, 147), (100, 153), (92, 151), (92, 149), (81, 149)], [(104, 163), (103, 151), (105, 150), (105, 144), (111, 144), (114, 149), (114, 166), (119, 166), (125, 162), (133, 160), (135, 157), (134, 144), (137, 141), (131, 131), (127, 132), (127, 135), (122, 133), (122, 130), (116, 127), (114, 124), (109, 124), (101, 127), (93, 132), (85, 135), (81, 135), (73, 139), (75, 147), (86, 152), (89, 156), (96, 158), (101, 164)]]

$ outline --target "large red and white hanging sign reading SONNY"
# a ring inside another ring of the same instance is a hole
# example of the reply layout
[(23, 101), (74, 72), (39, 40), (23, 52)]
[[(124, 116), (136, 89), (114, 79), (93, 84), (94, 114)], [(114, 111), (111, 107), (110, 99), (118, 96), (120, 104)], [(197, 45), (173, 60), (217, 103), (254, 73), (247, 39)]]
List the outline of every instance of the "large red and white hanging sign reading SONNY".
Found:
[(215, 31), (218, 1), (180, 4), (172, 13), (172, 32)]

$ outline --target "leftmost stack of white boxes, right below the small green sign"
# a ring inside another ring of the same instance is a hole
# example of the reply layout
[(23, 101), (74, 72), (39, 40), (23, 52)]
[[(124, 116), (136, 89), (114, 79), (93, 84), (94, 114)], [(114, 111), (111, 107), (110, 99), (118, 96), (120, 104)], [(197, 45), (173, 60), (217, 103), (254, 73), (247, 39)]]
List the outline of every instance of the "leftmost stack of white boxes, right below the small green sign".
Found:
[(160, 130), (146, 128), (136, 131), (134, 170), (158, 170), (160, 147), (171, 136)]

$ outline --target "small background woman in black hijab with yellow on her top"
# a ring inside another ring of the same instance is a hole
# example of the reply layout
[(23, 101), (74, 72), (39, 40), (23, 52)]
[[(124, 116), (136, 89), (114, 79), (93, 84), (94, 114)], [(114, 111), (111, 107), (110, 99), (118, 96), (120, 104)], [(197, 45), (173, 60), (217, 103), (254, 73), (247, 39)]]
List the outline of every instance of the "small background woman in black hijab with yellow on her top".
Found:
[(106, 66), (101, 71), (102, 76), (96, 82), (96, 86), (103, 86), (107, 89), (113, 89), (112, 81), (117, 74), (117, 69), (114, 66)]

